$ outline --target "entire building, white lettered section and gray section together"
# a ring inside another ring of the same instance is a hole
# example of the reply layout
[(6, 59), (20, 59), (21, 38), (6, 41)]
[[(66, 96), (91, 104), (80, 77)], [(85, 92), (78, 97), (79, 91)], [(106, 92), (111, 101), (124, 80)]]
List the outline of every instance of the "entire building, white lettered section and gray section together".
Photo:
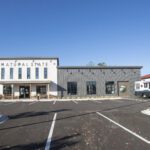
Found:
[(133, 96), (141, 66), (59, 66), (58, 58), (0, 58), (1, 98)]

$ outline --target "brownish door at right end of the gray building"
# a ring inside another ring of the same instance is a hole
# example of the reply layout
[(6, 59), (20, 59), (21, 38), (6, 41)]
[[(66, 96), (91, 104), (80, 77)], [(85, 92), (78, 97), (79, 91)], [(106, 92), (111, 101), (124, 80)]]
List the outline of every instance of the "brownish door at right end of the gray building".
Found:
[(128, 81), (118, 82), (118, 95), (121, 97), (129, 96), (129, 82)]

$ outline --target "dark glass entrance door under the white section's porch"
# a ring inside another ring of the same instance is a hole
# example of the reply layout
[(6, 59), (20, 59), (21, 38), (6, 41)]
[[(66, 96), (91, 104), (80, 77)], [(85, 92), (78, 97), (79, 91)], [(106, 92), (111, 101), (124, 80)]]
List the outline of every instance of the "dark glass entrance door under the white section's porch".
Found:
[(20, 98), (30, 98), (30, 87), (29, 86), (20, 86), (19, 88)]

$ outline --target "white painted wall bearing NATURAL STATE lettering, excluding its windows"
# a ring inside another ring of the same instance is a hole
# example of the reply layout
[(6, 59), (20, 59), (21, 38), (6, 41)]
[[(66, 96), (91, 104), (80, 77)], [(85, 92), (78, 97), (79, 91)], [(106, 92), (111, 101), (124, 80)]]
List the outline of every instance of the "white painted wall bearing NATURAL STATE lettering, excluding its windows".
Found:
[[(39, 64), (41, 64), (39, 66)], [(0, 83), (24, 81), (30, 83), (31, 81), (51, 81), (50, 92), (51, 95), (57, 95), (57, 59), (31, 59), (31, 60), (0, 60)], [(1, 79), (1, 68), (5, 68), (5, 79)], [(27, 79), (27, 68), (31, 68), (31, 79)], [(39, 79), (35, 78), (35, 68), (39, 68)], [(48, 68), (48, 78), (44, 79), (44, 67)], [(10, 79), (10, 68), (14, 68), (14, 78)], [(18, 68), (22, 68), (22, 79), (18, 79)], [(1, 92), (1, 89), (0, 89)], [(19, 87), (14, 87), (15, 96), (19, 96)], [(32, 95), (35, 95), (36, 88), (32, 88)]]

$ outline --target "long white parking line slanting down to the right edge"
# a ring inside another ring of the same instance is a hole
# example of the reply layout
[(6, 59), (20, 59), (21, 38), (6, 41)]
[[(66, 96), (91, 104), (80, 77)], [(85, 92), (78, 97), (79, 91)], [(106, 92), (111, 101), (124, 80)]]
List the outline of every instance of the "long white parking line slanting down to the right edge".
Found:
[(150, 141), (148, 141), (147, 139), (145, 139), (145, 138), (143, 138), (142, 136), (138, 135), (137, 133), (135, 133), (135, 132), (133, 132), (133, 131), (127, 129), (126, 127), (122, 126), (121, 124), (119, 124), (119, 123), (113, 121), (112, 119), (106, 117), (105, 115), (103, 115), (103, 114), (101, 114), (101, 113), (99, 113), (99, 112), (96, 112), (96, 113), (97, 113), (98, 115), (102, 116), (103, 118), (109, 120), (110, 122), (114, 123), (115, 125), (119, 126), (120, 128), (124, 129), (125, 131), (129, 132), (130, 134), (134, 135), (134, 136), (137, 137), (138, 139), (144, 141), (144, 142), (147, 143), (147, 144), (150, 144)]

